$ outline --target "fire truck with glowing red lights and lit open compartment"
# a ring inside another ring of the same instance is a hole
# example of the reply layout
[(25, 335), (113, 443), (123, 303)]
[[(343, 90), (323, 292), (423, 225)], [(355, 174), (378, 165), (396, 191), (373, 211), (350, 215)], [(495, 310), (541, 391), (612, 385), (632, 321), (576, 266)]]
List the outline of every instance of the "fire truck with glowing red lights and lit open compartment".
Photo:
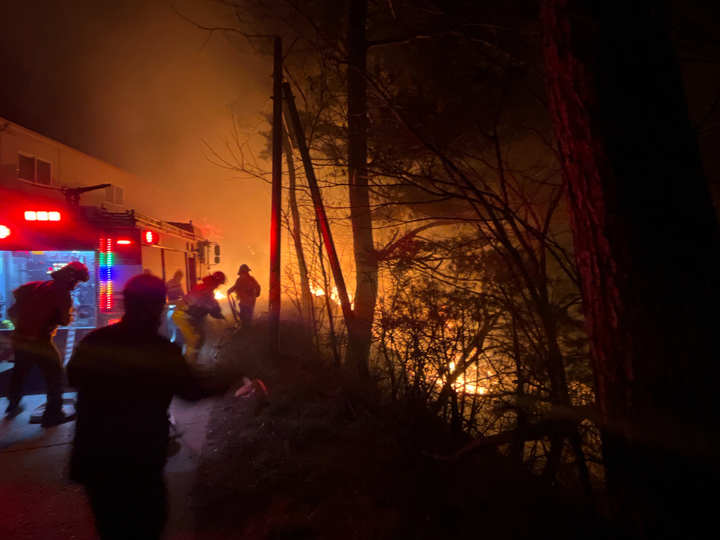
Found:
[[(29, 281), (50, 279), (50, 273), (71, 261), (85, 264), (91, 278), (73, 291), (74, 319), (55, 336), (65, 361), (87, 332), (121, 318), (122, 290), (130, 277), (151, 273), (165, 281), (180, 270), (187, 291), (202, 276), (202, 267), (210, 262), (210, 242), (198, 227), (135, 210), (79, 204), (83, 191), (103, 187), (66, 190), (65, 201), (0, 187), (0, 344), (5, 344), (0, 360), (11, 354), (7, 309), (12, 291)], [(219, 246), (215, 254), (217, 263)]]

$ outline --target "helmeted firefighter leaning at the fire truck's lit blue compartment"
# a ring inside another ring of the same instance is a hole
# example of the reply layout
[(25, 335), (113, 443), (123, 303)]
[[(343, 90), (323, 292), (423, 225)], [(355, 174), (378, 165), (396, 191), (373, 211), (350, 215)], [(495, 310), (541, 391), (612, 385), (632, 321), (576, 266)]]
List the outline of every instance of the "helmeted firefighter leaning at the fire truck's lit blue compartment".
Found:
[(15, 324), (12, 346), (15, 366), (10, 374), (7, 418), (15, 418), (20, 405), (25, 378), (34, 365), (47, 383), (47, 405), (41, 424), (52, 427), (72, 420), (62, 410), (63, 363), (60, 352), (52, 342), (58, 326), (72, 321), (71, 292), (79, 282), (90, 279), (87, 266), (71, 262), (50, 274), (50, 281), (32, 281), (13, 291), (15, 304), (9, 315)]

